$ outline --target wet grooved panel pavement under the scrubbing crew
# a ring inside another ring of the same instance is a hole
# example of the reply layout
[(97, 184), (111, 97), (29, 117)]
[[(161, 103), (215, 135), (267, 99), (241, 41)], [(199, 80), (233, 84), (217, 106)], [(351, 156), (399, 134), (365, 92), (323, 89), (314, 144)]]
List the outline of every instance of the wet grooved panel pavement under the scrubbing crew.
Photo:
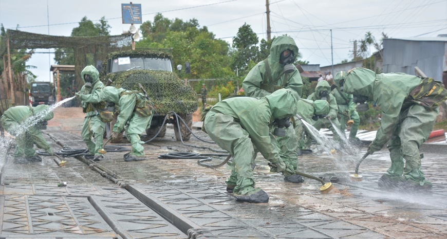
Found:
[[(50, 124), (46, 133), (82, 148), (82, 118), (61, 122)], [(210, 140), (201, 131), (194, 133)], [(48, 142), (60, 150), (49, 135)], [(219, 150), (194, 137), (185, 143)], [(338, 177), (337, 190), (321, 194), (321, 183), (311, 179), (284, 182), (268, 171), (259, 154), (254, 176), (270, 196), (266, 204), (235, 201), (225, 190), (230, 173), (225, 166), (211, 169), (197, 159), (157, 158), (169, 152), (216, 153), (175, 141), (169, 127), (164, 138), (144, 145), (144, 161), (125, 162), (122, 152), (107, 153), (97, 163), (68, 158), (64, 167), (49, 156), (18, 164), (11, 157), (14, 149), (9, 155), (0, 149), (0, 238), (447, 238), (445, 146), (423, 147), (422, 170), (433, 182), (428, 193), (379, 189), (377, 180), (390, 165), (385, 150), (361, 164), (363, 181), (352, 182), (345, 179), (366, 148), (332, 155), (313, 147), (313, 154), (299, 157), (299, 170)], [(63, 181), (68, 186), (57, 187)]]

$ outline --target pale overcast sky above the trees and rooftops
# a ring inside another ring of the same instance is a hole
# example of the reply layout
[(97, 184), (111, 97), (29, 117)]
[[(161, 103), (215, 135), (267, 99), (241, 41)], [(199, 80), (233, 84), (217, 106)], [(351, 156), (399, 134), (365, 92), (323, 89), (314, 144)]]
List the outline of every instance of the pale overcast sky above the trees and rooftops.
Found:
[[(121, 3), (126, 2), (116, 0), (0, 0), (0, 23), (5, 28), (20, 25), (22, 31), (48, 34), (47, 2), (51, 35), (70, 35), (84, 16), (95, 22), (105, 16), (113, 35), (129, 27), (121, 22)], [(259, 40), (267, 39), (264, 0), (146, 0), (134, 4), (142, 5), (143, 22), (152, 21), (157, 12), (170, 19), (195, 18), (200, 26), (208, 26), (216, 38), (230, 44), (238, 28), (247, 23), (259, 33)], [(270, 0), (270, 11), (272, 37), (292, 36), (302, 60), (321, 66), (331, 64), (330, 29), (334, 64), (352, 58), (352, 41), (362, 39), (367, 31), (377, 40), (382, 31), (391, 38), (447, 33), (447, 0)], [(51, 64), (53, 57), (50, 54)], [(48, 54), (33, 54), (28, 64), (38, 67), (32, 71), (39, 81), (48, 81)]]

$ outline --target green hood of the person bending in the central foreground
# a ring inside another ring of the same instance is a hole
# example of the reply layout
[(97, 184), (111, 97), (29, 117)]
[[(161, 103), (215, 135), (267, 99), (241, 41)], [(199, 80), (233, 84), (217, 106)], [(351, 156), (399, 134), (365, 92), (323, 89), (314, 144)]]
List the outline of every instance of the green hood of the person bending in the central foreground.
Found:
[(296, 103), (300, 96), (294, 90), (278, 89), (265, 98), (269, 101), (272, 116), (275, 119), (291, 117), (298, 111)]

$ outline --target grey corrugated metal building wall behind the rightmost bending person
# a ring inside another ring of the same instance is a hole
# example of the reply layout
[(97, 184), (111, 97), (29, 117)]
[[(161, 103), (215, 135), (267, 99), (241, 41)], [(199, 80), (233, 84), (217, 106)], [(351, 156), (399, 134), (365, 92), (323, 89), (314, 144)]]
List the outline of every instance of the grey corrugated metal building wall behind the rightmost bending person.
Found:
[(383, 39), (384, 73), (415, 75), (417, 66), (427, 77), (442, 82), (447, 75), (446, 56), (447, 38)]

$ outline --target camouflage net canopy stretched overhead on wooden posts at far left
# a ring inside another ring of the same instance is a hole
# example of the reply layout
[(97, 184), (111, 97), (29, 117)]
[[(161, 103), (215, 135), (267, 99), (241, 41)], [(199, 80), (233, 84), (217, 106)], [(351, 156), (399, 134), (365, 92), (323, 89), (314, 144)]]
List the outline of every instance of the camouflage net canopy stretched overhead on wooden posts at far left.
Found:
[(87, 65), (87, 53), (94, 56), (94, 61), (104, 61), (111, 51), (132, 48), (130, 35), (74, 37), (36, 34), (8, 29), (0, 45), (0, 57), (7, 51), (6, 41), (9, 39), (10, 49), (50, 49), (72, 48), (74, 51), (74, 72), (76, 82), (82, 84), (81, 71)]

